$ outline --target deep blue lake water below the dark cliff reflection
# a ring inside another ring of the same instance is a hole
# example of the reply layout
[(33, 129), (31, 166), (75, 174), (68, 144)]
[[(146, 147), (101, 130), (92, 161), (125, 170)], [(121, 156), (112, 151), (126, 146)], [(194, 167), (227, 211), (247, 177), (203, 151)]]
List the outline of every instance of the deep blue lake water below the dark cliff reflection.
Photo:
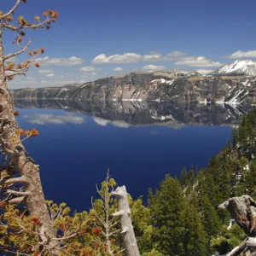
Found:
[(134, 198), (145, 196), (167, 173), (207, 166), (231, 133), (229, 126), (131, 126), (65, 110), (19, 110), (20, 127), (40, 133), (25, 145), (40, 165), (46, 199), (79, 211), (90, 207), (107, 168)]

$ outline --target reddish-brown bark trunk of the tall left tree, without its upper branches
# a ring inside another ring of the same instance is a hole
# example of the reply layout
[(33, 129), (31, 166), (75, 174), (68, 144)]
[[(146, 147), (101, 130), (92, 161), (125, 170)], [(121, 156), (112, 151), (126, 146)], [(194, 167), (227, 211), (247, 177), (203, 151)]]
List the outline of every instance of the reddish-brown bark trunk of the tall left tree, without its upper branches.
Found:
[(15, 166), (17, 166), (20, 172), (20, 177), (10, 178), (5, 183), (22, 183), (26, 191), (24, 195), (10, 200), (9, 203), (25, 203), (30, 215), (39, 218), (41, 223), (38, 230), (41, 234), (40, 240), (44, 243), (44, 246), (53, 247), (51, 252), (52, 255), (55, 255), (58, 243), (56, 240), (50, 239), (55, 237), (55, 229), (44, 203), (39, 166), (28, 156), (22, 143), (13, 143), (11, 141), (12, 138), (17, 137), (17, 124), (4, 71), (2, 29), (0, 26), (0, 143), (3, 153), (12, 156)]

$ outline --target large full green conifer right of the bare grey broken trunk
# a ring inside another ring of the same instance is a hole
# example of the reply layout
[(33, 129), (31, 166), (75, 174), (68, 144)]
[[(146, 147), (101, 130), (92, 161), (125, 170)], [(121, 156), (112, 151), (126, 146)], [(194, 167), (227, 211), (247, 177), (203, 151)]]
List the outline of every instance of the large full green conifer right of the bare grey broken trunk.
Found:
[(149, 205), (153, 246), (164, 255), (185, 255), (185, 215), (187, 201), (177, 179), (166, 176)]

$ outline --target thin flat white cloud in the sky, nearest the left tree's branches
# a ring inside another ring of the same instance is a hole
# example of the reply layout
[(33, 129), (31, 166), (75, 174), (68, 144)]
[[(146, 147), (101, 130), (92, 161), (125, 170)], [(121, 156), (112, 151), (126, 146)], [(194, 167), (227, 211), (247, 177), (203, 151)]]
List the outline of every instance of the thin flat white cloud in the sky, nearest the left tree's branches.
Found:
[(84, 59), (75, 56), (70, 58), (49, 58), (46, 56), (44, 58), (38, 58), (37, 61), (42, 66), (74, 66), (84, 63)]

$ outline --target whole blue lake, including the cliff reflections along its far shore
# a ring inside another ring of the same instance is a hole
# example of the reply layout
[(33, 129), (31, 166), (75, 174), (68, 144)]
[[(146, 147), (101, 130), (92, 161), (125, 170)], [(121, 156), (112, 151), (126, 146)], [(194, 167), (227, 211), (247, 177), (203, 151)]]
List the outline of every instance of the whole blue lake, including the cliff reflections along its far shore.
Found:
[(155, 189), (183, 166), (207, 166), (230, 139), (242, 109), (160, 102), (15, 100), (18, 123), (36, 128), (25, 141), (40, 166), (46, 199), (90, 207), (107, 168), (133, 198)]

